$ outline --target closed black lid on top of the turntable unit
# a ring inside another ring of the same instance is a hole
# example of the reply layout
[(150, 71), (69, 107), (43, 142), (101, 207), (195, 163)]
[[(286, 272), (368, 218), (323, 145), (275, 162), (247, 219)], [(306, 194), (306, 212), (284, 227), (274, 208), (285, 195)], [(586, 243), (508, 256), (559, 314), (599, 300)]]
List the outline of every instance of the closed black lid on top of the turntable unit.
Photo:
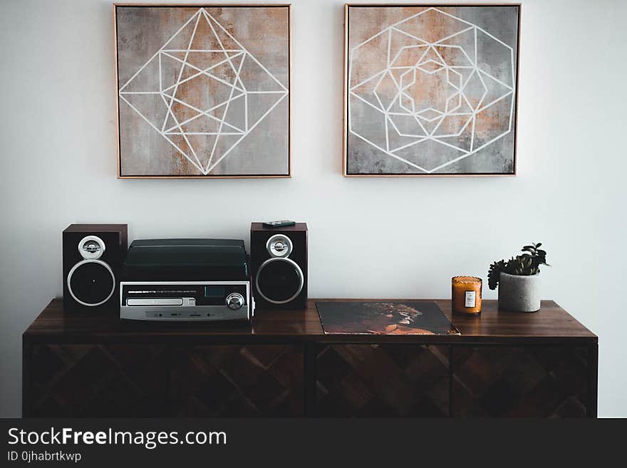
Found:
[(128, 248), (127, 279), (168, 281), (247, 279), (244, 241), (239, 239), (141, 239)]

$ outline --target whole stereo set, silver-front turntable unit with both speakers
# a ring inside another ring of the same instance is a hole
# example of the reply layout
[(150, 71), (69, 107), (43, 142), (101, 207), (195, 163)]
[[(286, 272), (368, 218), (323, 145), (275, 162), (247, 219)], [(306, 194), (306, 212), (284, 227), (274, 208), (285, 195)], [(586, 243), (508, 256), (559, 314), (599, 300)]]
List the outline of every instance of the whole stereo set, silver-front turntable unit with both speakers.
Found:
[(250, 321), (259, 308), (305, 308), (307, 225), (252, 223), (238, 239), (135, 240), (126, 224), (63, 231), (63, 306), (140, 321)]

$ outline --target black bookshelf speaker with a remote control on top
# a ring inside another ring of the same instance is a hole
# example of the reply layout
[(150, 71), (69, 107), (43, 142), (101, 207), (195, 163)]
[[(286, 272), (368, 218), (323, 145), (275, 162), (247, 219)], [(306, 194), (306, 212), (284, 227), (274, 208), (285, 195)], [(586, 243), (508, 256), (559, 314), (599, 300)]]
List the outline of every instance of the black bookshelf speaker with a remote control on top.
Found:
[(256, 307), (307, 306), (307, 224), (250, 227), (252, 284)]

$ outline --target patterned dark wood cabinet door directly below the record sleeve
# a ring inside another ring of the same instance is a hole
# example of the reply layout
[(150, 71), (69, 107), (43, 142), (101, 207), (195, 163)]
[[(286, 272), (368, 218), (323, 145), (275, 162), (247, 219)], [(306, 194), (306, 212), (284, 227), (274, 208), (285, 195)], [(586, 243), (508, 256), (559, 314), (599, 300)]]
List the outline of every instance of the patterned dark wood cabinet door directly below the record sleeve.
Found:
[(449, 348), (437, 345), (321, 345), (319, 416), (446, 417)]

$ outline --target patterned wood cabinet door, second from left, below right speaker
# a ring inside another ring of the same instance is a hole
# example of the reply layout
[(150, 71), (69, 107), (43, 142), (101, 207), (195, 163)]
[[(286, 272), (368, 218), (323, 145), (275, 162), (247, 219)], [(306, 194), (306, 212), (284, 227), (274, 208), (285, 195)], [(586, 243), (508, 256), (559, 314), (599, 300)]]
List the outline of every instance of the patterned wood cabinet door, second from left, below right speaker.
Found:
[(170, 405), (185, 417), (301, 416), (302, 345), (211, 345), (172, 350)]

